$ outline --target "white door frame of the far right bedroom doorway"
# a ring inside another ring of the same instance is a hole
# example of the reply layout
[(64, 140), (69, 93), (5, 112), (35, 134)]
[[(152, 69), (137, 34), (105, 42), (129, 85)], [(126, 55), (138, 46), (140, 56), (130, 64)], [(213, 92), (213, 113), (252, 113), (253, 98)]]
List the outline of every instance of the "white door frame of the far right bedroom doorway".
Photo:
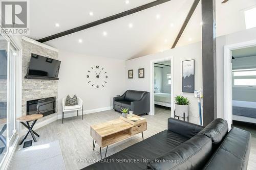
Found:
[(256, 40), (246, 41), (224, 46), (224, 119), (227, 120), (228, 129), (232, 125), (232, 50), (255, 46)]

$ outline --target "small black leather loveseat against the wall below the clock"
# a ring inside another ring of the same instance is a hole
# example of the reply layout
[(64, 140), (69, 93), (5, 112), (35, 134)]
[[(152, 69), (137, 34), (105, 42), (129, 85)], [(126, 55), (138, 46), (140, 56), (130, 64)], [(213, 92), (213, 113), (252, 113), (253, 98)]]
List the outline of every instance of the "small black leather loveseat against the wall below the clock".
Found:
[(147, 114), (150, 112), (150, 92), (127, 90), (123, 95), (113, 98), (113, 109), (121, 111), (122, 108), (129, 108), (133, 114)]

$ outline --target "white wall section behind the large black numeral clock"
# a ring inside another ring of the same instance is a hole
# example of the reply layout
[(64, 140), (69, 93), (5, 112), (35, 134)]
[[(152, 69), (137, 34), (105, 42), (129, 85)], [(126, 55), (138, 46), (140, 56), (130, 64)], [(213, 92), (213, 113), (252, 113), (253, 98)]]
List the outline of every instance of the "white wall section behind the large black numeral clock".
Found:
[[(76, 94), (84, 102), (84, 113), (106, 110), (112, 107), (113, 97), (117, 94), (122, 94), (125, 91), (124, 80), (127, 77), (125, 74), (125, 61), (110, 59), (104, 57), (93, 57), (80, 54), (72, 54), (65, 51), (59, 51), (60, 71), (58, 83), (59, 95), (59, 110), (61, 110), (61, 99), (68, 94), (71, 97)], [(108, 79), (104, 87), (101, 83), (104, 79), (87, 78), (88, 70), (96, 65), (104, 67)], [(88, 81), (94, 82), (94, 86)], [(96, 84), (100, 87), (96, 88)], [(94, 110), (96, 109), (96, 110)], [(61, 112), (59, 111), (59, 114)]]

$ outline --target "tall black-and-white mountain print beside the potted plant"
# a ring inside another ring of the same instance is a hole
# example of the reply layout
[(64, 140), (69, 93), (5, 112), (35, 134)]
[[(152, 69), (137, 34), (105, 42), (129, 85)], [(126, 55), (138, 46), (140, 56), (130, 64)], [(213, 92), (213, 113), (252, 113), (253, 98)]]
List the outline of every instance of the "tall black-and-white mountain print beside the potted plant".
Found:
[(182, 92), (195, 91), (195, 60), (182, 61)]

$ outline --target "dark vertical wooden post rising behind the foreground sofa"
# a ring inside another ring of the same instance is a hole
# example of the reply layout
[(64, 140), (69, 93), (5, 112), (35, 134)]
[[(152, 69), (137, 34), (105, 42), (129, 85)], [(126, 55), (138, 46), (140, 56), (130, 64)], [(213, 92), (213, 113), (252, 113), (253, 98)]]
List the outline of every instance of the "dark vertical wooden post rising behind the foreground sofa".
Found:
[(203, 125), (217, 118), (215, 0), (202, 0)]

